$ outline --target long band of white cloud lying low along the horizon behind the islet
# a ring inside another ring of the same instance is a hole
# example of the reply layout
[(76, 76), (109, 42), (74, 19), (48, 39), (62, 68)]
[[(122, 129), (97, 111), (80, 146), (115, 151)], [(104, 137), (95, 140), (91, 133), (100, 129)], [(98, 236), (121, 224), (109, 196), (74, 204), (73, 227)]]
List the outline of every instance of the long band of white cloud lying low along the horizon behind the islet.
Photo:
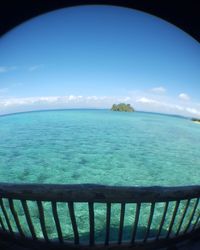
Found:
[(53, 109), (53, 108), (110, 108), (113, 103), (130, 103), (136, 110), (160, 112), (168, 114), (179, 114), (200, 117), (198, 104), (188, 106), (173, 103), (169, 99), (165, 101), (140, 96), (131, 98), (129, 96), (39, 96), (26, 98), (0, 98), (0, 113), (12, 113), (19, 111)]

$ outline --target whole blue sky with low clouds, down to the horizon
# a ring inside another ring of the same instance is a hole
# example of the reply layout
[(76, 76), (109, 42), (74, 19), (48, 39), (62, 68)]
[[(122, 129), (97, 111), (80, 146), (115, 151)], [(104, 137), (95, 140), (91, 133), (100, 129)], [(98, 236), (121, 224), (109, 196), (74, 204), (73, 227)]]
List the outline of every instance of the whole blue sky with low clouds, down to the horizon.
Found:
[(110, 108), (200, 117), (200, 44), (144, 12), (79, 6), (0, 40), (0, 114)]

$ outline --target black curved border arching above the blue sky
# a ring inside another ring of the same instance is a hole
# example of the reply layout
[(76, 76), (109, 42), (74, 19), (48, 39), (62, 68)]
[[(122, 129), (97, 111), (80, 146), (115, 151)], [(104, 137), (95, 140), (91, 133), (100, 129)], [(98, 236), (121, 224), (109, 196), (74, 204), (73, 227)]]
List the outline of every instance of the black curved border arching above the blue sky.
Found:
[(66, 7), (94, 4), (127, 7), (152, 14), (176, 25), (200, 42), (199, 0), (2, 0), (0, 37), (38, 15)]

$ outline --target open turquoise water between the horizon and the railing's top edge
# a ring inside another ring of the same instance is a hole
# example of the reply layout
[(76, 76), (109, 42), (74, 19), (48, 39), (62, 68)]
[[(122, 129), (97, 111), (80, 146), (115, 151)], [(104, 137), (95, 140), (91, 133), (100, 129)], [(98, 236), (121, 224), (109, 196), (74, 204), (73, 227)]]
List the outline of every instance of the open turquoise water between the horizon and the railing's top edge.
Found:
[(200, 125), (109, 110), (0, 117), (0, 182), (177, 186), (200, 182)]

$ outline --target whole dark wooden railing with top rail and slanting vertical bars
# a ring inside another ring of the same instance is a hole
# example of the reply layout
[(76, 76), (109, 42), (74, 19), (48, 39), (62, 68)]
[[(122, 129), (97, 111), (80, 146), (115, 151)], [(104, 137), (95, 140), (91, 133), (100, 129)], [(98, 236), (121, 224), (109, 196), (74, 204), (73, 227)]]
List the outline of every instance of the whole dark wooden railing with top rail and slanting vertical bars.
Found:
[(0, 184), (0, 234), (37, 244), (159, 247), (199, 234), (200, 186)]

